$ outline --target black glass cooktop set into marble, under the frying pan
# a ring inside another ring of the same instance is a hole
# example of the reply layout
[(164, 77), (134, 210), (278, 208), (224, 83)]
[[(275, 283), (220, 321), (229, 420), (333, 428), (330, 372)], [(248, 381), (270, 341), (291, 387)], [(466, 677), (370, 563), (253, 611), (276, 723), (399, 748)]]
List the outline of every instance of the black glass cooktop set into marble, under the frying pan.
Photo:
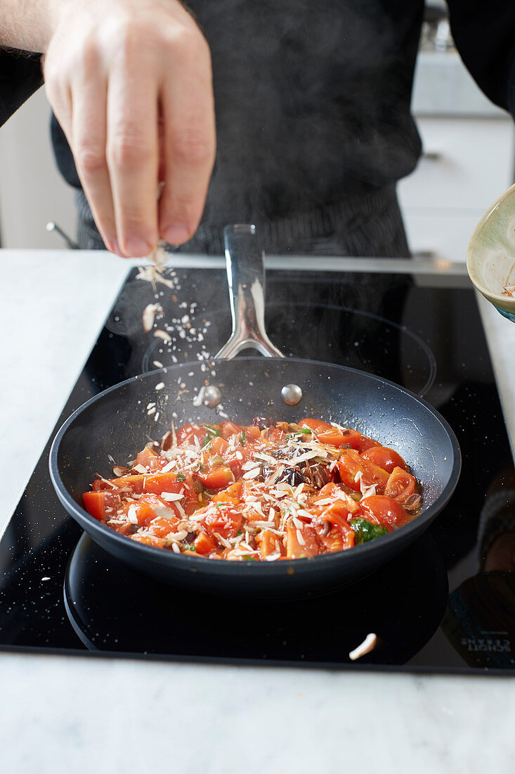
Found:
[[(172, 288), (156, 293), (136, 273), (56, 430), (107, 386), (202, 358), (227, 340), (222, 269), (170, 272)], [(445, 416), (463, 454), (448, 506), (408, 550), (339, 591), (288, 601), (217, 598), (149, 580), (82, 533), (49, 481), (53, 433), (0, 542), (0, 649), (515, 673), (515, 471), (468, 280), (270, 271), (267, 286), (268, 332), (286, 354), (391, 379)], [(142, 310), (156, 302), (169, 342), (142, 328)], [(377, 646), (351, 662), (369, 632)]]

